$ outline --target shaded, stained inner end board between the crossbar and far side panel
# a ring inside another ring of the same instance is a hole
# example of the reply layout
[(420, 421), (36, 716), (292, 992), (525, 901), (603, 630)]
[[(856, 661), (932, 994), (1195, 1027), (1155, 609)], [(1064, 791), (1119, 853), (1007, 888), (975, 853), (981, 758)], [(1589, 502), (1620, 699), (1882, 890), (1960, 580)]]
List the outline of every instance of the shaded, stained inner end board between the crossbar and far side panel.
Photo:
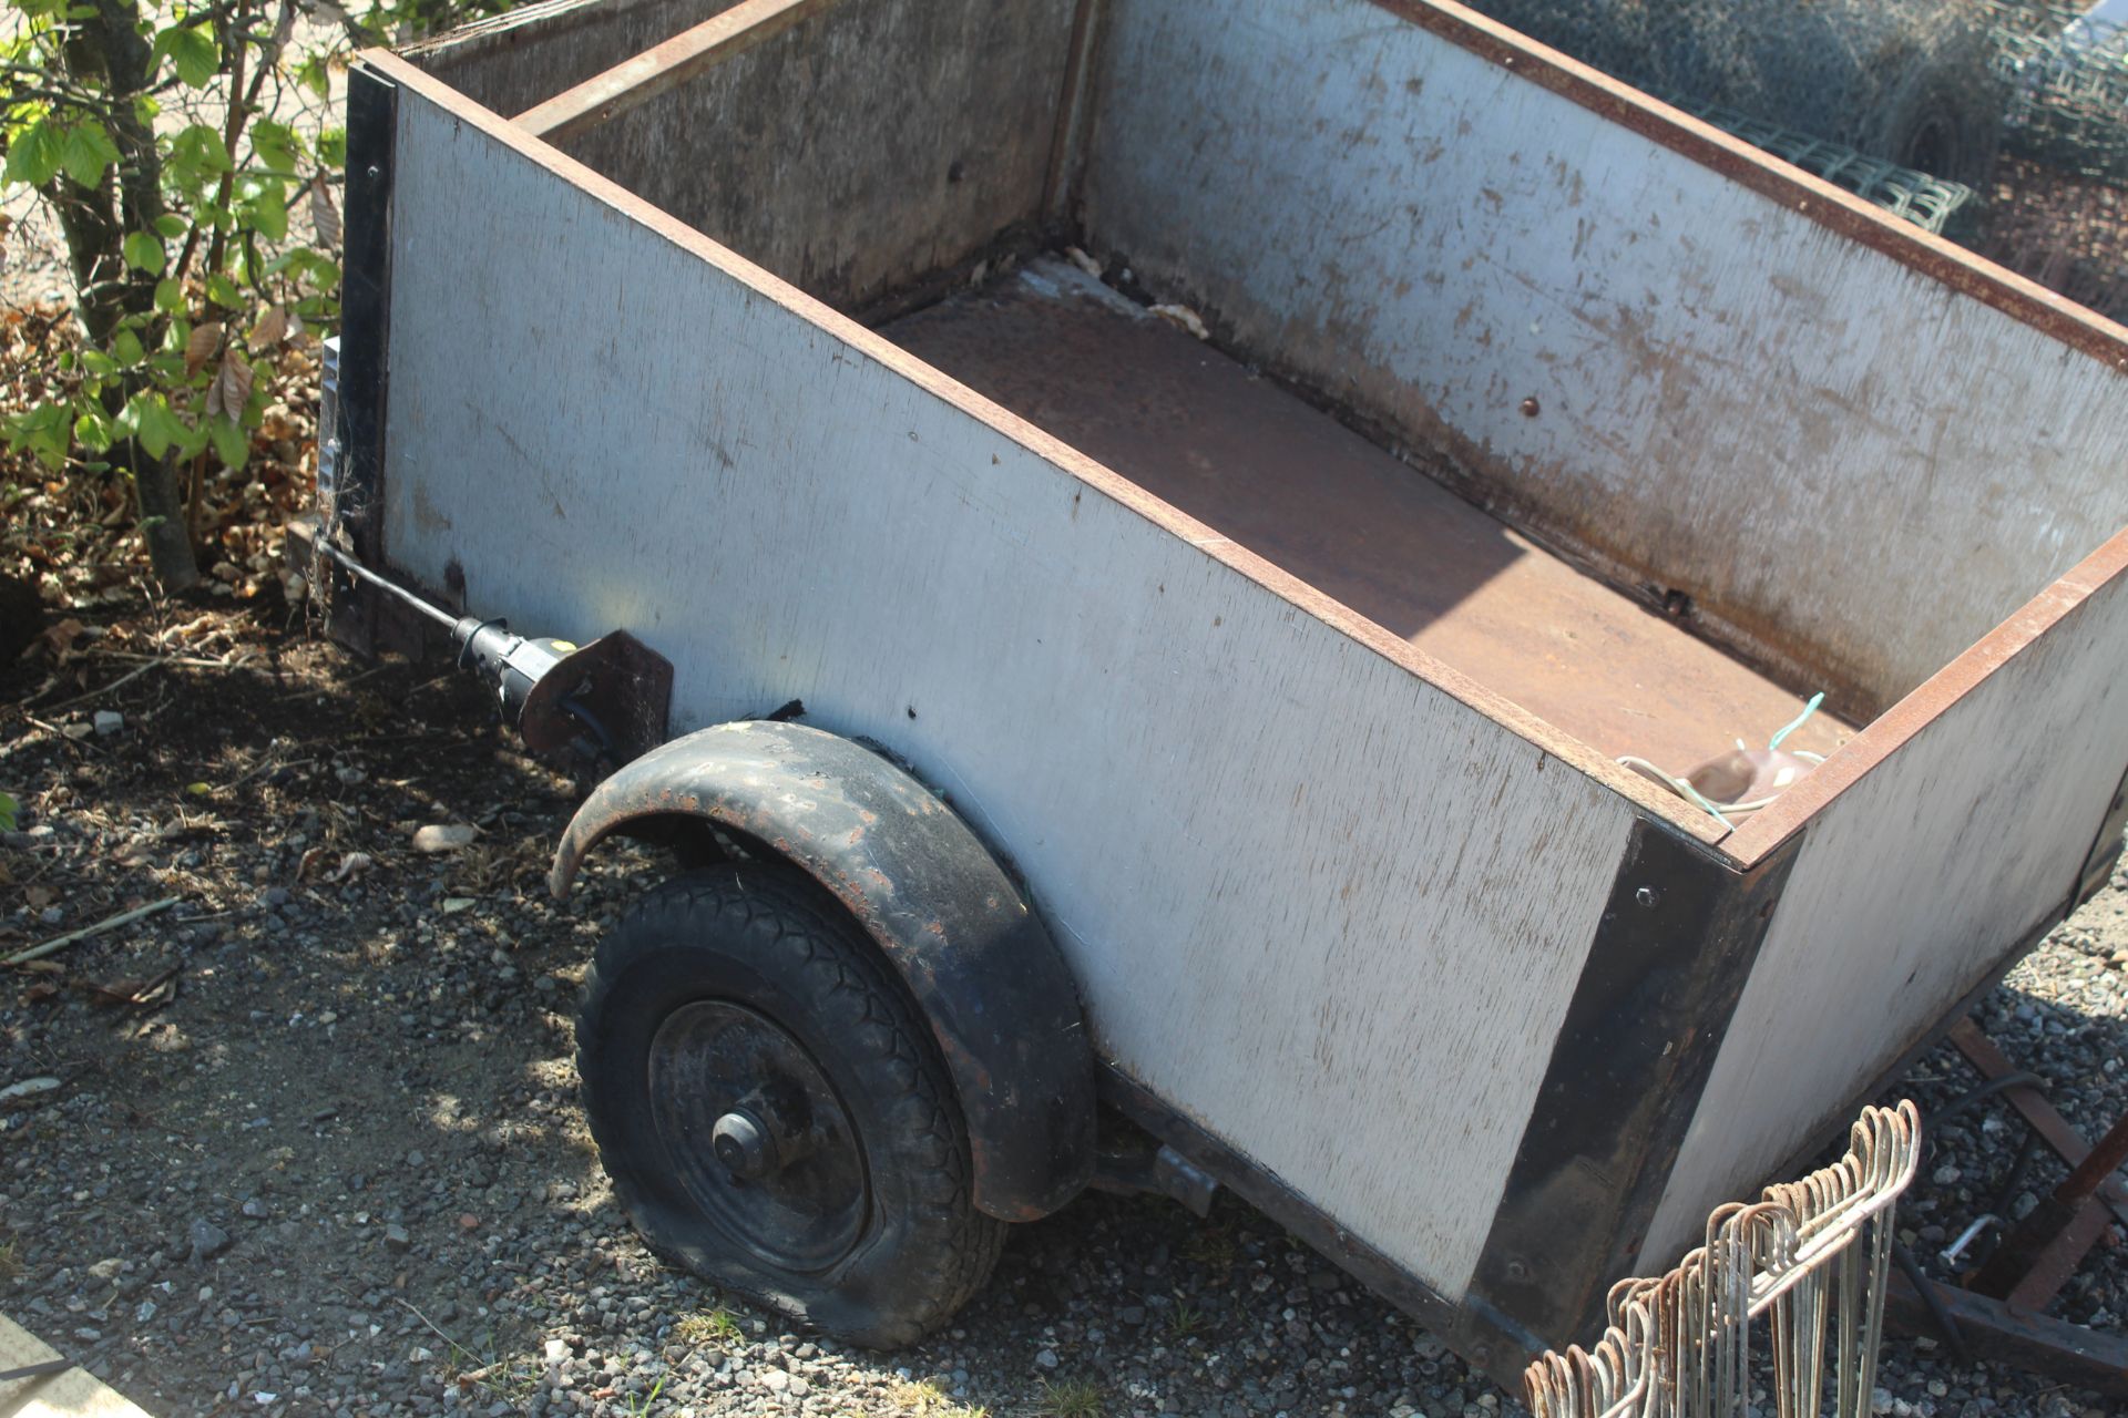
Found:
[(1073, 0), (841, 0), (562, 147), (845, 310), (1043, 217)]

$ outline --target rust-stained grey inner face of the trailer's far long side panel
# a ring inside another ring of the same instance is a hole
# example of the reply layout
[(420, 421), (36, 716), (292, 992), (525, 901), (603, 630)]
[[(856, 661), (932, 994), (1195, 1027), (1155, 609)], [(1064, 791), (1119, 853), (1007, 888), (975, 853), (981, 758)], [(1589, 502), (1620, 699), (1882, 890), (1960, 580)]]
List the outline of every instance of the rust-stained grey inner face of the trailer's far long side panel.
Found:
[(1858, 712), (2128, 521), (2119, 332), (2081, 353), (1951, 285), (2005, 272), (1873, 249), (1798, 210), (1847, 198), (1775, 200), (1390, 6), (1113, 0), (1096, 111), (1100, 249)]

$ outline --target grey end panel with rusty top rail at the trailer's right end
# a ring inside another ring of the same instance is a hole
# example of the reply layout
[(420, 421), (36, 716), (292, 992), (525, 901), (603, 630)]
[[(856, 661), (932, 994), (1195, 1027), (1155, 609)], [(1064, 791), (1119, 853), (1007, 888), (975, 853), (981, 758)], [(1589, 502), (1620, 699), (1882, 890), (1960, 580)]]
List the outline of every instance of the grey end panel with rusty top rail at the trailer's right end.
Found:
[[(1830, 801), (1781, 804), (1815, 812), (1641, 1273), (1834, 1129), (1856, 1088), (2064, 910), (2128, 765), (2124, 665), (2128, 534), (1849, 744), (1866, 772), (1843, 782), (1834, 759), (1805, 784)], [(1785, 829), (1753, 821), (1728, 846)]]

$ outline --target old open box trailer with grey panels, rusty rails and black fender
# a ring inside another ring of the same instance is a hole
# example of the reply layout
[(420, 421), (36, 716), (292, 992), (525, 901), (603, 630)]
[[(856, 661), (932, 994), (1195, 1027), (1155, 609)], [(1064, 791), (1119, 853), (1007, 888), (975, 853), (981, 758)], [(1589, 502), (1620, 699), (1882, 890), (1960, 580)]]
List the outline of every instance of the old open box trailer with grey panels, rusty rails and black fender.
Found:
[(2128, 332), (1468, 9), (547, 0), (347, 102), (336, 634), (617, 763), (602, 1159), (824, 1329), (1217, 1182), (1513, 1384), (2119, 848)]

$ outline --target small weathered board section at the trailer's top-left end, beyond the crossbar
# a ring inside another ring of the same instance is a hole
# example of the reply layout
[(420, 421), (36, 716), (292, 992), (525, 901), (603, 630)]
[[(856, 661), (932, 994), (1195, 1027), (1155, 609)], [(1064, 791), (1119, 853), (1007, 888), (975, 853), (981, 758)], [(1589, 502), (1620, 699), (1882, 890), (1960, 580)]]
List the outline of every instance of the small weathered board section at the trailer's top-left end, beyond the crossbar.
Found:
[(734, 0), (543, 0), (404, 51), (496, 113), (532, 104), (643, 53)]

